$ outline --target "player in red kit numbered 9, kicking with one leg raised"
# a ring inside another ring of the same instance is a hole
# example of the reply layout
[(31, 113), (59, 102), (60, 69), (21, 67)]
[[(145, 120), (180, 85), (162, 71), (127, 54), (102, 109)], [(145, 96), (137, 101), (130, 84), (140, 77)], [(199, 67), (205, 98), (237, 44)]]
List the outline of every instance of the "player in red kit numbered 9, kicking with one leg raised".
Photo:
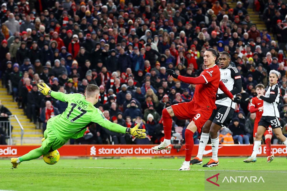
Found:
[(216, 109), (215, 100), (218, 87), (234, 102), (239, 103), (238, 97), (233, 98), (232, 93), (220, 80), (220, 71), (216, 65), (219, 53), (210, 48), (203, 54), (205, 70), (197, 77), (184, 77), (177, 75), (173, 70), (166, 70), (166, 74), (188, 84), (195, 84), (195, 92), (190, 102), (174, 104), (162, 110), (164, 141), (160, 145), (152, 147), (153, 150), (170, 150), (172, 117), (178, 119), (192, 119), (185, 130), (185, 161), (179, 170), (190, 170), (189, 162), (193, 149), (193, 133), (201, 132), (201, 127), (210, 118), (212, 111)]

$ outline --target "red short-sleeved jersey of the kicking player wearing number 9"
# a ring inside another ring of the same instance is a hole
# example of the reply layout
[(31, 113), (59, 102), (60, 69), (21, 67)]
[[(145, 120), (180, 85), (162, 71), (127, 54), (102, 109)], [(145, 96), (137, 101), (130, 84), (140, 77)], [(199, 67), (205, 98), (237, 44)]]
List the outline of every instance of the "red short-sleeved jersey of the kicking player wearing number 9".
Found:
[(216, 64), (213, 67), (203, 70), (200, 76), (203, 76), (206, 83), (195, 85), (193, 101), (201, 107), (210, 107), (216, 109), (216, 93), (220, 82), (220, 71)]

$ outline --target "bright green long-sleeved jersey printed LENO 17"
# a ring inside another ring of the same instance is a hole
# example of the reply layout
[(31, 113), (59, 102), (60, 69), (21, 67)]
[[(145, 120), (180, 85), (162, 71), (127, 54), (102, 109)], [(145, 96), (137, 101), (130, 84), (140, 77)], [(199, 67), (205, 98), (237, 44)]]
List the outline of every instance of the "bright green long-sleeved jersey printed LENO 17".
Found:
[(51, 96), (57, 100), (68, 103), (67, 109), (60, 115), (48, 120), (52, 123), (59, 136), (64, 139), (77, 139), (84, 135), (86, 128), (93, 123), (117, 133), (126, 133), (126, 127), (112, 123), (102, 111), (86, 101), (82, 94), (64, 94), (62, 92), (51, 92)]

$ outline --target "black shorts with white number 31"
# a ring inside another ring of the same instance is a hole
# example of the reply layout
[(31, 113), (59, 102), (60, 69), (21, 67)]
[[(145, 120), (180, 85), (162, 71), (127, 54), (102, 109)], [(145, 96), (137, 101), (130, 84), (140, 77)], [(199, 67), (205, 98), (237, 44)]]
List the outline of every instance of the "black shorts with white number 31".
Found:
[(227, 127), (233, 117), (233, 113), (233, 108), (216, 104), (216, 109), (213, 110), (209, 120), (222, 127)]

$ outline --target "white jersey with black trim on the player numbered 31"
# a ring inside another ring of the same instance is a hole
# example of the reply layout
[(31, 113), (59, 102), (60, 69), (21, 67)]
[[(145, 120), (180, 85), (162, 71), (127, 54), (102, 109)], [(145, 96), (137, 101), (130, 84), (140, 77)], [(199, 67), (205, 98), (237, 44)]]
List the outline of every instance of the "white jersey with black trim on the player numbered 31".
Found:
[[(219, 70), (220, 70), (220, 79), (222, 80), (226, 88), (229, 91), (233, 90), (234, 80), (241, 78), (240, 71), (237, 68), (231, 66), (230, 64), (227, 68), (225, 69), (219, 68)], [(223, 91), (220, 88), (218, 88), (217, 93), (222, 94)], [(235, 97), (235, 95), (233, 95), (233, 97)], [(236, 105), (236, 103), (232, 102), (232, 100), (229, 97), (216, 100), (215, 104), (224, 105), (226, 107), (232, 107), (233, 109), (235, 109)]]

